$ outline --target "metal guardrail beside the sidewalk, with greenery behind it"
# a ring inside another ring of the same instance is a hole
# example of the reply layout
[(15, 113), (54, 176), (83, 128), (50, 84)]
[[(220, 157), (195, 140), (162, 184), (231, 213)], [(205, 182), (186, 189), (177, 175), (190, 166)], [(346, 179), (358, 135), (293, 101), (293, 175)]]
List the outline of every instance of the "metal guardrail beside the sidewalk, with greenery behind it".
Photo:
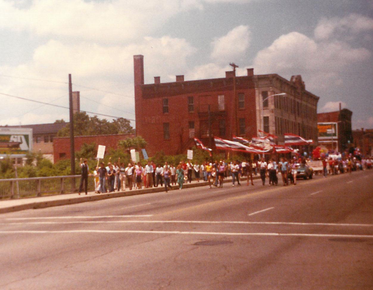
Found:
[[(79, 189), (81, 175), (0, 179), (0, 199), (64, 194)], [(94, 190), (94, 177), (88, 176), (88, 190)]]

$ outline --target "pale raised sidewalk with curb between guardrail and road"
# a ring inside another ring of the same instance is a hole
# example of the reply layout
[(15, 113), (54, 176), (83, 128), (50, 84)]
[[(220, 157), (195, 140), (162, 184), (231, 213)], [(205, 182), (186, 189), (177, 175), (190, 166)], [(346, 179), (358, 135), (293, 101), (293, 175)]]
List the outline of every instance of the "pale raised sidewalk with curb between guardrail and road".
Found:
[[(256, 175), (253, 176), (253, 179), (259, 179), (260, 176)], [(241, 181), (246, 181), (246, 177), (241, 178)], [(224, 180), (224, 183), (232, 182), (232, 178), (228, 177)], [(192, 188), (192, 187), (200, 187), (200, 186), (208, 186), (209, 183), (207, 181), (192, 181), (192, 183), (184, 183), (183, 188)], [(172, 189), (178, 189), (178, 185), (173, 185)], [(88, 195), (81, 193), (78, 195), (77, 193), (69, 193), (69, 194), (56, 194), (56, 195), (47, 195), (41, 197), (29, 197), (29, 198), (21, 198), (15, 200), (0, 200), (0, 214), (1, 213), (10, 213), (12, 211), (20, 211), (20, 210), (27, 210), (27, 209), (37, 209), (37, 208), (45, 208), (45, 207), (53, 207), (59, 205), (67, 205), (67, 204), (76, 204), (76, 203), (85, 203), (87, 201), (96, 201), (96, 200), (104, 200), (107, 198), (115, 198), (115, 197), (124, 197), (130, 195), (137, 195), (137, 194), (147, 194), (152, 192), (161, 192), (165, 191), (164, 187), (152, 187), (152, 188), (143, 188), (143, 189), (132, 189), (129, 190), (128, 188), (125, 191), (116, 191), (110, 193), (103, 193), (103, 194), (96, 194), (93, 191), (88, 192)]]

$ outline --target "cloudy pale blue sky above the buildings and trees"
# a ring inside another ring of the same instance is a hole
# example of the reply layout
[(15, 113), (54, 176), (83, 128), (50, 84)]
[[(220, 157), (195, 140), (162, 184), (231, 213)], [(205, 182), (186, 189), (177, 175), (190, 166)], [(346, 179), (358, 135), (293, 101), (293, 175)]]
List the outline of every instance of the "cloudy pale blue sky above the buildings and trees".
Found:
[(373, 128), (371, 15), (372, 0), (0, 0), (0, 125), (69, 120), (6, 96), (68, 106), (68, 74), (81, 110), (135, 119), (142, 54), (145, 83), (225, 77), (230, 62), (301, 74), (318, 112), (341, 102), (352, 128)]

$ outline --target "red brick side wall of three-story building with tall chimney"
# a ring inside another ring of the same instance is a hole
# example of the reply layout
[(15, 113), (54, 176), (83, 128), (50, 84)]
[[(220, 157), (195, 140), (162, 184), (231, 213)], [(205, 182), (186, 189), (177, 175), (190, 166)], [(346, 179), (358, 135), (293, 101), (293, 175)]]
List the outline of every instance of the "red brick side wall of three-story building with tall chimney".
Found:
[[(144, 57), (134, 56), (136, 135), (147, 142), (150, 155), (163, 150), (166, 154), (186, 153), (192, 137), (206, 146), (211, 136), (255, 136), (256, 96), (254, 72), (235, 76), (227, 71), (219, 79), (144, 84)], [(236, 96), (236, 98), (234, 98)], [(209, 118), (210, 108), (210, 118)]]

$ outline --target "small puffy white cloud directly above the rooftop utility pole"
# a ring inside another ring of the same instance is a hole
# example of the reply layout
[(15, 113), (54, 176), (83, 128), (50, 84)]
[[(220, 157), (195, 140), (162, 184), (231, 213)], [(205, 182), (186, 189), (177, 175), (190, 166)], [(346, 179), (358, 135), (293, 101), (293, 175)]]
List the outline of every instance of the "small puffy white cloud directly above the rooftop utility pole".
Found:
[(232, 61), (242, 56), (250, 45), (251, 32), (247, 25), (233, 28), (226, 35), (214, 39), (211, 43), (213, 50), (211, 58), (219, 63)]

